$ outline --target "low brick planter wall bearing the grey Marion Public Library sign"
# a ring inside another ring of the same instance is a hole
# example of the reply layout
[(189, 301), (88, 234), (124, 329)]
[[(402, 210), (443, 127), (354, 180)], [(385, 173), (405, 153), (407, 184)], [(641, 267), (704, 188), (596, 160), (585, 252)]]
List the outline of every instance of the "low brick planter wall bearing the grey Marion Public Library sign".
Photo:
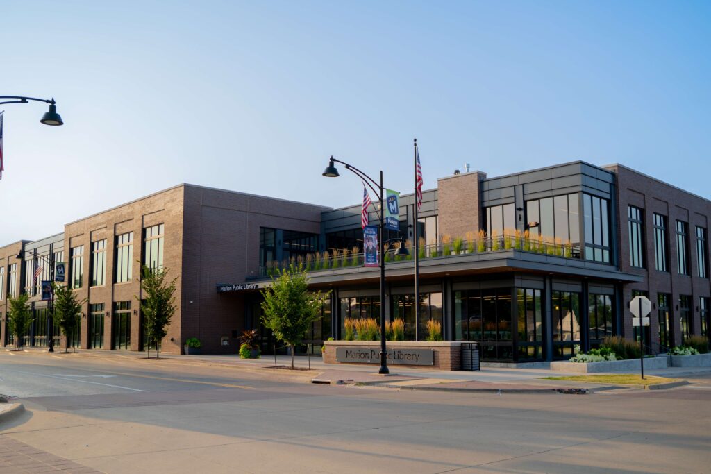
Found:
[[(380, 365), (380, 341), (326, 340), (327, 364)], [(461, 370), (461, 342), (387, 341), (387, 365), (418, 369)]]

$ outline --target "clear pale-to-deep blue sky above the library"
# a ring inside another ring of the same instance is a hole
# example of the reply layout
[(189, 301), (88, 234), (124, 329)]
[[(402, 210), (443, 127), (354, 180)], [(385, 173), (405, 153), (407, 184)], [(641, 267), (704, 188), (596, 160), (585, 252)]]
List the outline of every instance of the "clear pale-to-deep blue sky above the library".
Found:
[(178, 183), (339, 207), (355, 176), (412, 191), (623, 163), (705, 198), (708, 1), (3, 1), (0, 245)]

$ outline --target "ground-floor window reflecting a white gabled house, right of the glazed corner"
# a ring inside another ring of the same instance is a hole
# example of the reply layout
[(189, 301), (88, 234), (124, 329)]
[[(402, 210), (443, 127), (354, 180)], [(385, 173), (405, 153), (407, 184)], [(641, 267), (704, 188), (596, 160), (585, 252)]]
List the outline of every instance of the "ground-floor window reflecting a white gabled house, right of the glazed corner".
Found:
[(552, 293), (553, 358), (562, 359), (580, 350), (580, 293)]

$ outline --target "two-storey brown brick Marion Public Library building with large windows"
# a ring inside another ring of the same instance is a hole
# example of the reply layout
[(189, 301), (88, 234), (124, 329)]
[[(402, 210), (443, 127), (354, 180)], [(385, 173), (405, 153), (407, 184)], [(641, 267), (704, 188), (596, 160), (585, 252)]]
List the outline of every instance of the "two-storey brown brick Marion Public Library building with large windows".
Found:
[[(385, 236), (410, 248), (413, 204), (412, 195), (400, 197), (400, 231)], [(606, 335), (635, 338), (627, 306), (643, 294), (653, 301), (649, 350), (664, 351), (709, 334), (710, 216), (709, 200), (621, 165), (577, 161), (495, 178), (480, 171), (440, 178), (419, 211), (418, 298), (412, 257), (385, 255), (386, 317), (403, 318), (410, 340), (424, 339), (425, 323), (436, 319), (446, 340), (479, 341), (483, 360), (554, 360)], [(50, 308), (39, 281), (66, 262), (68, 284), (87, 299), (69, 343), (144, 350), (140, 262), (177, 278), (178, 311), (162, 350), (180, 352), (197, 337), (204, 352), (234, 353), (237, 335), (259, 328), (269, 352), (259, 289), (272, 269), (301, 262), (311, 286), (330, 294), (309, 335), (318, 350), (342, 336), (345, 318), (380, 315), (380, 273), (362, 265), (361, 252), (360, 205), (333, 209), (178, 185), (71, 222), (62, 234), (0, 247), (0, 341), (15, 342), (6, 330), (8, 295), (26, 291), (35, 323), (25, 343), (48, 344)]]

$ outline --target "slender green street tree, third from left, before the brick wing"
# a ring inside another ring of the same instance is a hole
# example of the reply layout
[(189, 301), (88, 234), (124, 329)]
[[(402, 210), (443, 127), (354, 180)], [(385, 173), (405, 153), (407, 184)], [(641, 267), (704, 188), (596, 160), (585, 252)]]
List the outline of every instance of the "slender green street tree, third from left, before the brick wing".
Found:
[(146, 336), (149, 343), (152, 340), (156, 345), (156, 359), (159, 359), (161, 340), (166, 337), (168, 325), (176, 312), (173, 294), (176, 292), (177, 277), (169, 281), (167, 269), (151, 269), (145, 265), (141, 266), (141, 274), (143, 299), (137, 299), (141, 305)]

